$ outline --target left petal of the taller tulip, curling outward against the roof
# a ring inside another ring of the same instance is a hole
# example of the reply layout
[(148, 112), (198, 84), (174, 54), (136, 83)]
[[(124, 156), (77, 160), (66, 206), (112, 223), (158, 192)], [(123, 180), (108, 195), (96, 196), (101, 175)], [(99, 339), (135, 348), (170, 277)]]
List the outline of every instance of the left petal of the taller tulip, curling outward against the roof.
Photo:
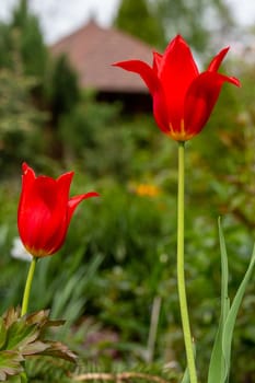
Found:
[(157, 73), (148, 63), (143, 61), (140, 61), (140, 60), (121, 61), (121, 62), (115, 62), (114, 66), (120, 67), (130, 72), (140, 74), (140, 77), (147, 84), (151, 94), (153, 94), (159, 86), (159, 80), (157, 78)]

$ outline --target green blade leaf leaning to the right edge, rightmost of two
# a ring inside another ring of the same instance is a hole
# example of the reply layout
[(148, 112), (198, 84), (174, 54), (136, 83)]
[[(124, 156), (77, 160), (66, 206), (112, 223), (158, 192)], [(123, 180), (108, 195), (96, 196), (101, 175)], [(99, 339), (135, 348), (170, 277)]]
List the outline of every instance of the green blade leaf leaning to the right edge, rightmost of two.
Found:
[(233, 299), (233, 303), (229, 311), (228, 317), (224, 322), (223, 332), (222, 332), (222, 349), (225, 360), (225, 369), (224, 369), (224, 381), (228, 381), (229, 372), (230, 372), (230, 359), (231, 359), (231, 344), (233, 337), (234, 325), (239, 312), (239, 307), (241, 305), (246, 286), (250, 281), (250, 278), (253, 272), (253, 268), (255, 265), (255, 245), (252, 254), (252, 258), (247, 268), (247, 271), (244, 275), (244, 278), (239, 287), (239, 290)]

